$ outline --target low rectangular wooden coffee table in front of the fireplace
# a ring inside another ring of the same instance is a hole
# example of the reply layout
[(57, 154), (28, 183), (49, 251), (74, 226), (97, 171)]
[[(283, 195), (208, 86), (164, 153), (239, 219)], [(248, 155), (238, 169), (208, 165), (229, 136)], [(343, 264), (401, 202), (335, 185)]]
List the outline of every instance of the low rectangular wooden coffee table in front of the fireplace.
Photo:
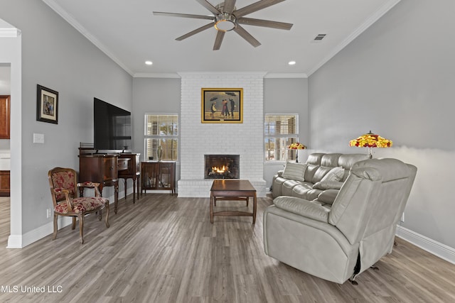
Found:
[[(217, 211), (213, 212), (217, 200), (238, 201), (245, 200), (248, 206), (248, 199), (253, 197), (253, 212), (247, 211)], [(248, 180), (214, 180), (210, 188), (210, 223), (213, 223), (213, 216), (252, 216), (253, 224), (256, 223), (256, 189)]]

